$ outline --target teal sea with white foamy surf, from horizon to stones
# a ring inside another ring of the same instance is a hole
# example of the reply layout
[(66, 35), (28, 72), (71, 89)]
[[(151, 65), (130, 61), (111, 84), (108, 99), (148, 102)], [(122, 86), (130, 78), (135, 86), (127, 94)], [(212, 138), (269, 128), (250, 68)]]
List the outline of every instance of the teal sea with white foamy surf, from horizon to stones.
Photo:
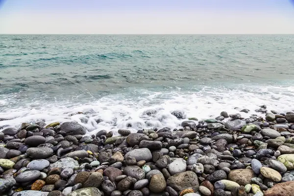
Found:
[(294, 35), (0, 35), (0, 127), (74, 120), (94, 133), (175, 128), (175, 110), (291, 111), (293, 59)]

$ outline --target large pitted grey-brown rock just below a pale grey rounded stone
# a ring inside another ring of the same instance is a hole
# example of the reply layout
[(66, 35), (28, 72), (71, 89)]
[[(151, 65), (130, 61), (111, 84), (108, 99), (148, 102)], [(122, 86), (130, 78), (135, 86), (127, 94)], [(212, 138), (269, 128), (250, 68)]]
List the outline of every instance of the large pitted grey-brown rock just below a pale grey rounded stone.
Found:
[(167, 186), (172, 187), (177, 192), (193, 187), (198, 189), (199, 183), (195, 172), (187, 171), (176, 173), (167, 179)]

